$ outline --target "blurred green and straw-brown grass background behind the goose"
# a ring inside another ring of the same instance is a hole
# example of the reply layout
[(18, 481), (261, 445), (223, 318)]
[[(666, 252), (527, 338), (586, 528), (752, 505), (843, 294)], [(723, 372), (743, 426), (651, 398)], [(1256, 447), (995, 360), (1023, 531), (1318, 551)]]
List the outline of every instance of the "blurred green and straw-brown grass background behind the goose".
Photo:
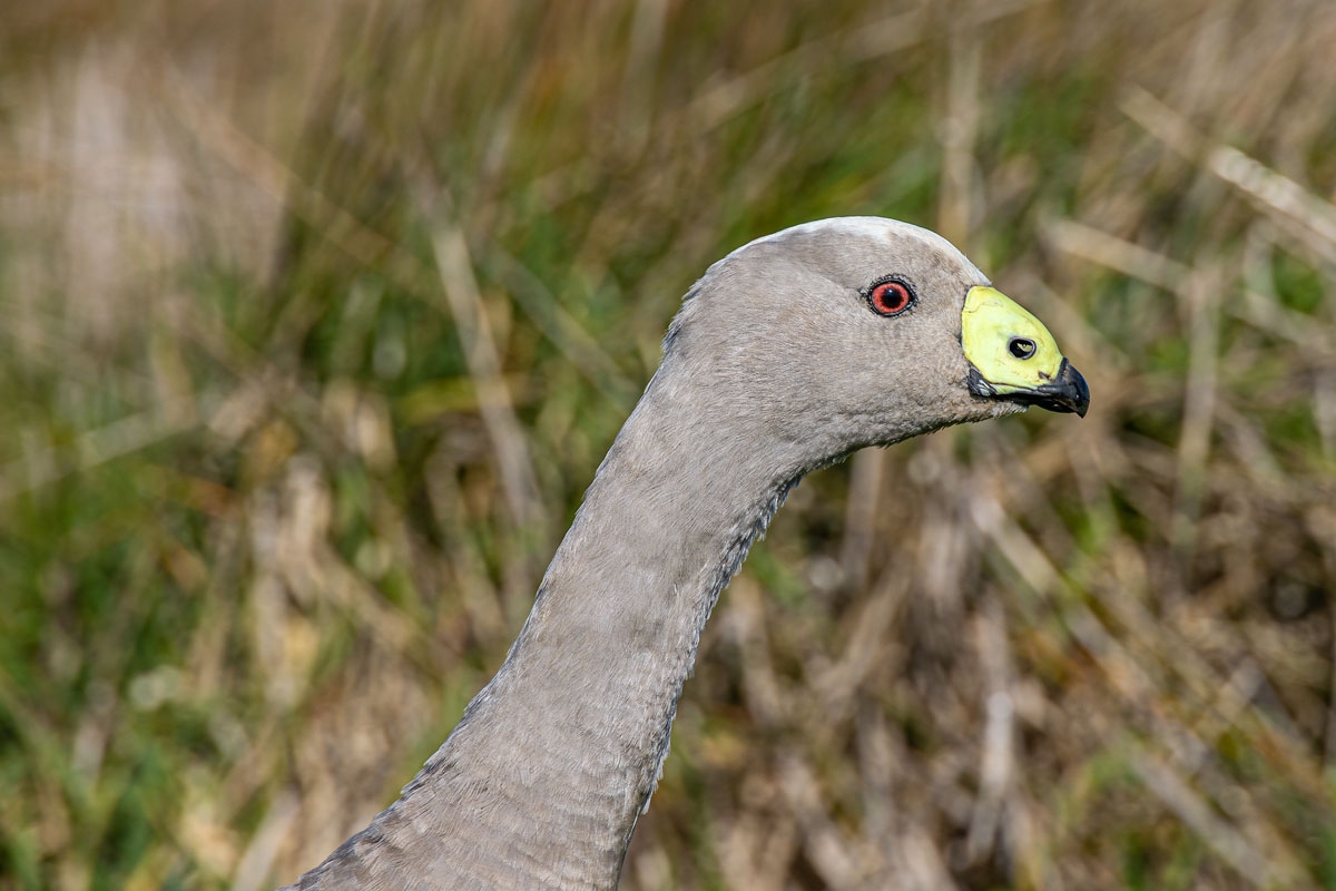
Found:
[(691, 283), (847, 214), (1093, 410), (799, 486), (623, 887), (1336, 887), (1333, 47), (1325, 0), (4, 4), (0, 887), (314, 866), (500, 665)]

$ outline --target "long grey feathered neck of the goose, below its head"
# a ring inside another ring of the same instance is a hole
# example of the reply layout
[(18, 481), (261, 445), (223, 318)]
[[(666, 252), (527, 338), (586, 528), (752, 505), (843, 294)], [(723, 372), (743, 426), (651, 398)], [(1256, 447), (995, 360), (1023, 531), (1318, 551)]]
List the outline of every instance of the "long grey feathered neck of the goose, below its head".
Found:
[(307, 887), (409, 864), (450, 888), (615, 887), (705, 620), (806, 469), (671, 377), (619, 434), (497, 676)]

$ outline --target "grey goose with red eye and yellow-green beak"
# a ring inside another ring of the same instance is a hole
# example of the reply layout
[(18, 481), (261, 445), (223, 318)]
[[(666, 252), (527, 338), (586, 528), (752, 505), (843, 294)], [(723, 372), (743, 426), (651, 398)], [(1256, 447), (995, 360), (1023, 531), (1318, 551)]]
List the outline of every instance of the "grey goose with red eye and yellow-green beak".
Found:
[(759, 238), (683, 301), (518, 639), (370, 826), (287, 888), (615, 888), (701, 629), (808, 472), (1090, 391), (950, 242), (850, 216)]

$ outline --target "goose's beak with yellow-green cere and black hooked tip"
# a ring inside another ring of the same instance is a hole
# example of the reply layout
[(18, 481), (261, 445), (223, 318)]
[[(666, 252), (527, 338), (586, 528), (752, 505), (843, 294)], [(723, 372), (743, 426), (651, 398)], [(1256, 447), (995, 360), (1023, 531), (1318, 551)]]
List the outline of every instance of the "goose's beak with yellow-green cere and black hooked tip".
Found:
[(1001, 291), (981, 286), (965, 295), (961, 346), (974, 395), (1082, 418), (1090, 407), (1090, 387), (1049, 329)]

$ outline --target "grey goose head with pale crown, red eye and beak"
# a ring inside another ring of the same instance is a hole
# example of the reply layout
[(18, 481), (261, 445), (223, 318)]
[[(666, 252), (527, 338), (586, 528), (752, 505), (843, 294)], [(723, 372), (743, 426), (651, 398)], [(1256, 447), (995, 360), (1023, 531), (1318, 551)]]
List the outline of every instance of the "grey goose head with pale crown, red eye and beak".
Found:
[(800, 454), (799, 469), (1090, 391), (1042, 322), (961, 251), (875, 216), (818, 220), (716, 262), (664, 341), (699, 407)]

